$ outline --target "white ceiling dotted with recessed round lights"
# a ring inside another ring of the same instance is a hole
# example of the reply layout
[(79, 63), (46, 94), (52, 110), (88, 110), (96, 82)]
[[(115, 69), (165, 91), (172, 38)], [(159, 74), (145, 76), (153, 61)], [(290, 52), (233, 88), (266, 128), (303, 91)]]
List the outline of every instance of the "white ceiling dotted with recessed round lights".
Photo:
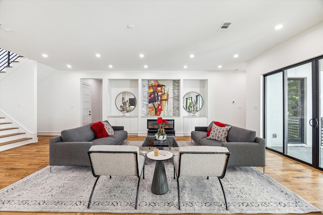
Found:
[(15, 32), (0, 30), (0, 47), (64, 70), (245, 70), (322, 21), (322, 0), (1, 0), (0, 23)]

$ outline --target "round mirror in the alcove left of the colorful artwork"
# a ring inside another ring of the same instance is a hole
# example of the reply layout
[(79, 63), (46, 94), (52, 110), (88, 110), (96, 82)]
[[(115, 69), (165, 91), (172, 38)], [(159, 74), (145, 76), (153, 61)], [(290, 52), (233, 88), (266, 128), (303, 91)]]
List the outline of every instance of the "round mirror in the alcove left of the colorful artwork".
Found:
[(116, 107), (125, 115), (133, 111), (137, 104), (136, 97), (130, 92), (122, 92), (116, 98)]

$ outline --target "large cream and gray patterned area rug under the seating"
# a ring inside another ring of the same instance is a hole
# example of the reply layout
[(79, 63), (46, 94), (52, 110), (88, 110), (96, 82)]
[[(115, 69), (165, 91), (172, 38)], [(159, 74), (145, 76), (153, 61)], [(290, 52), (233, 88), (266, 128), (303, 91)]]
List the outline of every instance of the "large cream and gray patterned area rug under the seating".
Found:
[[(138, 142), (126, 142), (136, 145)], [(191, 145), (179, 142), (180, 146)], [(193, 144), (194, 145), (194, 144)], [(145, 179), (140, 180), (138, 209), (136, 177), (101, 176), (90, 209), (88, 198), (95, 178), (90, 167), (45, 167), (0, 190), (0, 211), (111, 212), (111, 213), (308, 213), (321, 211), (253, 167), (229, 167), (222, 179), (229, 210), (217, 178), (180, 179), (182, 209), (178, 209), (173, 162), (165, 162), (169, 191), (151, 189), (154, 162), (146, 158)]]

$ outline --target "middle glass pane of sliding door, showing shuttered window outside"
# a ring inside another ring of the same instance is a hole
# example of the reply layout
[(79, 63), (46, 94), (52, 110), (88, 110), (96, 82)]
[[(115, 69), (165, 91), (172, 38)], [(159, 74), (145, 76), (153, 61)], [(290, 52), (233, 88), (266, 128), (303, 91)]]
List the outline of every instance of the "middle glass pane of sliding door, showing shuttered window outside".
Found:
[(312, 164), (312, 63), (285, 73), (285, 154)]

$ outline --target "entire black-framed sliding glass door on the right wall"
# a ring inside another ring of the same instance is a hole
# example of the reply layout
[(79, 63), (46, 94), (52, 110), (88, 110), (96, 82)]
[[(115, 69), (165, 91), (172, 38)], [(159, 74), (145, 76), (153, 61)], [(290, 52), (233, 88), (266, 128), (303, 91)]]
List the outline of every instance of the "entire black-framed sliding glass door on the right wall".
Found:
[(266, 148), (323, 168), (323, 56), (264, 76)]

